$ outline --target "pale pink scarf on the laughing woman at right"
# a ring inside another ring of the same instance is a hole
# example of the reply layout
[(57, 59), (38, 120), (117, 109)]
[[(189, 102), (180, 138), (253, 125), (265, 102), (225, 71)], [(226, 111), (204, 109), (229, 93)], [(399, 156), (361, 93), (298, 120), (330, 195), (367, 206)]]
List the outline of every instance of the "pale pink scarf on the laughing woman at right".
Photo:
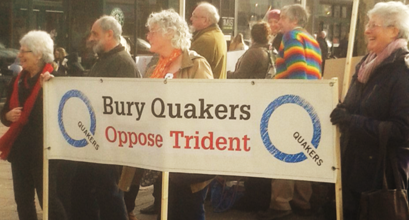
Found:
[(408, 42), (405, 39), (399, 38), (388, 44), (388, 46), (378, 55), (374, 52), (370, 52), (359, 68), (358, 81), (367, 83), (371, 73), (376, 67), (378, 67), (379, 64), (388, 58), (395, 50), (406, 47), (407, 45)]

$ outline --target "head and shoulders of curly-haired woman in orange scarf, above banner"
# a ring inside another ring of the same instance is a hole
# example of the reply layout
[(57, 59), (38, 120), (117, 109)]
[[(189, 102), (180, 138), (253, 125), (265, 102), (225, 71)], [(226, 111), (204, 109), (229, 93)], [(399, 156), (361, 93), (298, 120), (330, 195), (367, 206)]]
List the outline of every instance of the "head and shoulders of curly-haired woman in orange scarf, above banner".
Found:
[(206, 59), (189, 50), (192, 34), (188, 23), (173, 9), (152, 13), (146, 26), (150, 51), (160, 55), (157, 65), (147, 71), (147, 76), (164, 78), (170, 73), (173, 78), (213, 78)]

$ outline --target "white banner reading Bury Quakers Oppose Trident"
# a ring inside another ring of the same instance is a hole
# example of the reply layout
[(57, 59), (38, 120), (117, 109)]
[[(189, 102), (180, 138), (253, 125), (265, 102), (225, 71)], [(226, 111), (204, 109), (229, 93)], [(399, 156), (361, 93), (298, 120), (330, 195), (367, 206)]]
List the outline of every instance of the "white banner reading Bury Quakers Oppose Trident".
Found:
[(336, 80), (54, 78), (44, 144), (49, 159), (335, 183), (337, 91)]

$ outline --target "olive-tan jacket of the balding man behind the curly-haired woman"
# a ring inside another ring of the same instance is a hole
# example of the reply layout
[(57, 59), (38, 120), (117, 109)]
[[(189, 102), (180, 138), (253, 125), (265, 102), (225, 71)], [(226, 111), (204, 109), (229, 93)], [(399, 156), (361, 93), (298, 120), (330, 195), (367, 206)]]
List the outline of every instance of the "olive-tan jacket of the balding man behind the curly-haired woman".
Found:
[(227, 44), (217, 24), (193, 33), (191, 50), (206, 58), (215, 79), (226, 78)]

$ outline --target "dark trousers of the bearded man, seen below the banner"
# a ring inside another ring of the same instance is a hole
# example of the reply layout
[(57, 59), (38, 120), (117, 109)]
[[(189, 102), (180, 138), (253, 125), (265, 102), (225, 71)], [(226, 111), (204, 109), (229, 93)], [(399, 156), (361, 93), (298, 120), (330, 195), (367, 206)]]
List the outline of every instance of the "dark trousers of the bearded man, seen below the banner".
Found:
[(127, 220), (119, 166), (79, 162), (72, 188), (73, 220)]

